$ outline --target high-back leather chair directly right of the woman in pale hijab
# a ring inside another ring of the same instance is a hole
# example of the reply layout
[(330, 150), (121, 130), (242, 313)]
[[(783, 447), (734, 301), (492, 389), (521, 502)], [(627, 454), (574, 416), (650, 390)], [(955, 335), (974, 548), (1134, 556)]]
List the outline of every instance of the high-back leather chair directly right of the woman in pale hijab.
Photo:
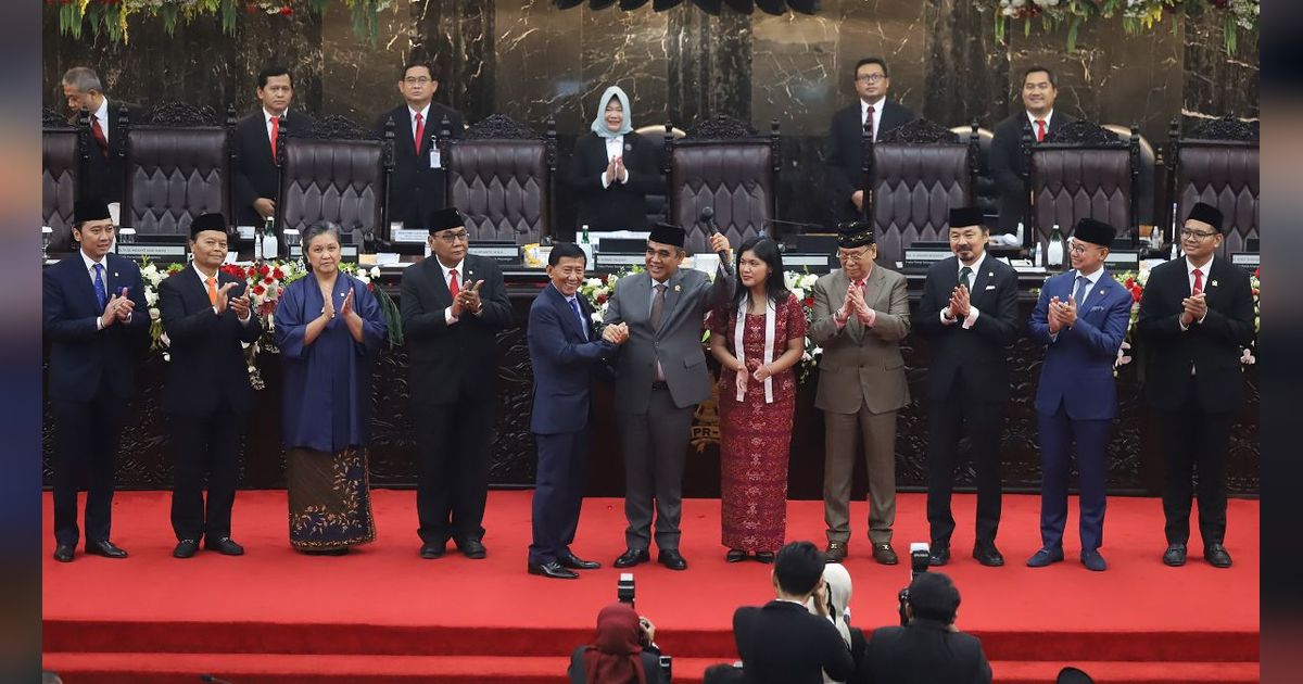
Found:
[(765, 137), (727, 116), (701, 121), (683, 138), (665, 137), (666, 215), (687, 231), (689, 254), (708, 249), (709, 233), (701, 224), (705, 207), (714, 210), (719, 232), (735, 248), (757, 235), (773, 235), (767, 221), (778, 218), (779, 142), (778, 121)]

